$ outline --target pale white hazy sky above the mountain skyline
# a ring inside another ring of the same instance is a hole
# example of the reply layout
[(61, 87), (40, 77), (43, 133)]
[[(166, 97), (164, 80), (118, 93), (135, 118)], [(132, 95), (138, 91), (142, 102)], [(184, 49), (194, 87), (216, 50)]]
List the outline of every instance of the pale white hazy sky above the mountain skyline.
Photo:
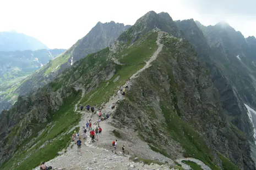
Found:
[(150, 10), (173, 20), (193, 18), (203, 25), (227, 21), (244, 36), (256, 36), (255, 0), (8, 0), (0, 5), (0, 31), (16, 30), (49, 48), (69, 48), (98, 21), (133, 25)]

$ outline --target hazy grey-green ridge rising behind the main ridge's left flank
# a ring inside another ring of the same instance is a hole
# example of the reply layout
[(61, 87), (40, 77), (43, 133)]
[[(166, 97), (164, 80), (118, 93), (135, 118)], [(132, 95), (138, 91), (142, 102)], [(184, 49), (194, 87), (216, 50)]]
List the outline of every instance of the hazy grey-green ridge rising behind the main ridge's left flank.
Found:
[[(15, 89), (10, 91), (8, 95), (4, 95), (0, 101), (0, 110), (9, 109), (12, 103), (15, 103), (16, 100), (10, 102), (10, 98), (17, 95), (27, 94), (45, 86), (45, 84), (51, 82), (59, 73), (72, 66), (79, 59), (84, 58), (90, 53), (95, 53), (110, 46), (118, 36), (129, 27), (129, 25), (125, 26), (113, 21), (106, 22), (104, 24), (98, 22), (85, 37), (79, 39), (77, 43), (75, 43), (61, 56), (51, 60), (48, 64), (43, 63), (44, 66), (41, 67), (40, 70), (32, 73), (32, 75), (18, 84)], [(41, 61), (41, 58), (39, 60)], [(20, 64), (22, 63), (23, 62)]]

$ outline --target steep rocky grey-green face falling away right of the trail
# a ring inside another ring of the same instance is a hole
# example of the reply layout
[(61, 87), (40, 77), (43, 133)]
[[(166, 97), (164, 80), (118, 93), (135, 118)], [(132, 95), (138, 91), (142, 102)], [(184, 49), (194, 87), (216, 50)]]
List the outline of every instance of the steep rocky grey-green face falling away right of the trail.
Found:
[(156, 61), (118, 106), (119, 126), (140, 129), (145, 141), (172, 158), (174, 139), (184, 148), (184, 156), (199, 158), (213, 169), (213, 164), (221, 166), (219, 152), (241, 169), (254, 169), (247, 138), (226, 121), (220, 95), (193, 47), (174, 37), (163, 38), (162, 43)]

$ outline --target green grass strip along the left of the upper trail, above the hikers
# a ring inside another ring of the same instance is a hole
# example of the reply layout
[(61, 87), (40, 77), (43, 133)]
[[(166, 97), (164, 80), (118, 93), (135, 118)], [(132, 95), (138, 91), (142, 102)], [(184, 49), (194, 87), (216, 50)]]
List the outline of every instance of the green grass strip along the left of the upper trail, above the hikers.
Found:
[[(148, 60), (155, 52), (156, 45), (156, 32), (150, 32), (148, 35), (141, 37), (134, 44), (134, 46), (123, 50), (117, 59), (123, 65), (116, 65), (115, 75), (109, 81), (103, 81), (99, 87), (86, 94), (82, 100), (83, 104), (99, 105), (107, 101), (114, 93), (117, 92), (117, 88), (121, 87), (135, 72), (141, 69), (145, 65), (145, 60)], [(91, 58), (87, 56), (86, 58)], [(117, 82), (113, 82), (116, 77), (120, 76)]]

